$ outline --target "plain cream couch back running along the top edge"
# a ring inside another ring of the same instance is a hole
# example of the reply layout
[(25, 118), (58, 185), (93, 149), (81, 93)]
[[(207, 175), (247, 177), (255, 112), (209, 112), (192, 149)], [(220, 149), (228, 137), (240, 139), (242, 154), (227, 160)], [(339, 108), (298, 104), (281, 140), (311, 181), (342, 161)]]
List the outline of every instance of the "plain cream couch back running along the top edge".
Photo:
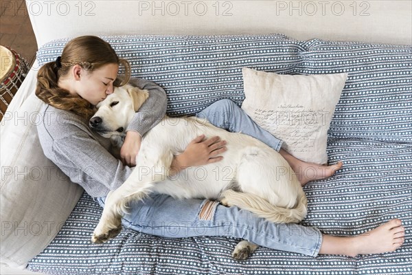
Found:
[[(5, 1), (13, 15), (14, 1)], [(20, 7), (22, 12), (24, 7)], [(64, 1), (26, 0), (38, 47), (68, 36), (271, 34), (300, 40), (412, 41), (411, 1)]]

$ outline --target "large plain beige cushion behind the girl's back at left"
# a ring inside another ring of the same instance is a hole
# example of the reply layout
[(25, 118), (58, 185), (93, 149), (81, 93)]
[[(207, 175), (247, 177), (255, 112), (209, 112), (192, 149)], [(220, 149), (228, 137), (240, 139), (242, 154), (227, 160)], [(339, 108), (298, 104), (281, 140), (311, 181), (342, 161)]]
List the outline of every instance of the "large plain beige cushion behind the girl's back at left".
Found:
[(30, 96), (23, 104), (14, 102), (0, 128), (1, 263), (20, 268), (54, 239), (82, 194), (43, 154), (36, 129), (43, 102), (34, 95), (32, 79), (23, 83), (16, 102)]

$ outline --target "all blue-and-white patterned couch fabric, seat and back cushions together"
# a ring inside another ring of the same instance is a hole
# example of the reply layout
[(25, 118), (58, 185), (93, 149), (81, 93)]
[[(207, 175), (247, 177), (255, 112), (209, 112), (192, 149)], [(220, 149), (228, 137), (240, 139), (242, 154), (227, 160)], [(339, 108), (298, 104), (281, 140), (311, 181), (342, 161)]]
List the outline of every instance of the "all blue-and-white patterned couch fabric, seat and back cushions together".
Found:
[[(341, 160), (344, 167), (333, 177), (306, 184), (309, 212), (302, 224), (325, 234), (354, 236), (399, 218), (406, 241), (396, 252), (356, 258), (311, 258), (258, 248), (245, 261), (231, 259), (238, 240), (227, 237), (166, 239), (122, 230), (108, 243), (93, 245), (90, 238), (102, 209), (84, 194), (54, 241), (32, 259), (30, 270), (67, 275), (412, 274), (411, 47), (294, 41), (279, 35), (106, 39), (132, 62), (134, 76), (165, 87), (172, 115), (196, 113), (220, 98), (240, 104), (241, 67), (284, 74), (349, 72), (328, 139), (329, 162)], [(49, 43), (38, 56), (54, 61), (64, 44)], [(374, 115), (367, 118), (368, 113)]]

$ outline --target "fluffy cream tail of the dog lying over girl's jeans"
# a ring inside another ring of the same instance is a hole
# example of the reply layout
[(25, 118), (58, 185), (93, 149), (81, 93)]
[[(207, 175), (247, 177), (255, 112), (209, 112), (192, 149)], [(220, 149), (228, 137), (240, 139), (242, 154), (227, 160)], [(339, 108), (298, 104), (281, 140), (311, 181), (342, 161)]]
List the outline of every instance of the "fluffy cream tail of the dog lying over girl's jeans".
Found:
[(257, 195), (233, 190), (225, 190), (222, 198), (222, 204), (226, 206), (237, 206), (274, 223), (298, 223), (308, 212), (308, 201), (304, 192), (301, 192), (294, 208), (274, 206)]

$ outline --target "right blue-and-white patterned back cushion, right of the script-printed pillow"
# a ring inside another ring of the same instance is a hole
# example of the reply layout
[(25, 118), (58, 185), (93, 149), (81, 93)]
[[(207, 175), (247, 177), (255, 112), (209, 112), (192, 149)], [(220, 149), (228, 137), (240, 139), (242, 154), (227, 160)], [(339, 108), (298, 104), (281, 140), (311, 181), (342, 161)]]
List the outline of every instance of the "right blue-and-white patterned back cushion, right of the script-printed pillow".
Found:
[(332, 137), (411, 142), (411, 46), (314, 39), (304, 47), (297, 74), (349, 74), (330, 124)]

